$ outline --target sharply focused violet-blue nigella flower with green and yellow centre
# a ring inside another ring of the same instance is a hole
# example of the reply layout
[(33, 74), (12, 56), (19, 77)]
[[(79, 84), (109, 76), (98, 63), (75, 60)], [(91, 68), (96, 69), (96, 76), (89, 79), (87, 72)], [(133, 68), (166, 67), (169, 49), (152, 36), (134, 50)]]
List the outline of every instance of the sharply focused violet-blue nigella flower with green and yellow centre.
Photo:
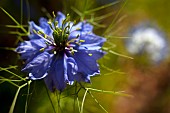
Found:
[(66, 84), (90, 82), (100, 73), (97, 60), (105, 54), (100, 49), (106, 39), (95, 35), (92, 25), (85, 21), (74, 25), (61, 12), (53, 20), (40, 18), (39, 23), (29, 22), (30, 40), (16, 49), (26, 61), (22, 70), (30, 79), (44, 79), (51, 91), (62, 91)]

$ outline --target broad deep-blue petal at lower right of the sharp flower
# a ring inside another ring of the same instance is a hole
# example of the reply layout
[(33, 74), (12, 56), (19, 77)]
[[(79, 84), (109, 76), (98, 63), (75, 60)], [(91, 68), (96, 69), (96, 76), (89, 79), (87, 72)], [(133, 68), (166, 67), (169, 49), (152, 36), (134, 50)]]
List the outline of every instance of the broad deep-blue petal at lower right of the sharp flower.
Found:
[[(79, 51), (79, 52), (81, 55), (78, 54), (79, 56), (78, 55), (75, 56), (75, 57), (81, 58), (80, 59), (81, 61), (76, 60), (79, 70), (78, 70), (77, 74), (74, 75), (75, 80), (78, 82), (83, 81), (83, 82), (90, 83), (90, 77), (100, 73), (100, 70), (98, 69), (99, 67), (98, 67), (96, 60), (103, 57), (105, 52), (103, 52), (102, 50)], [(90, 57), (89, 57), (89, 56), (87, 56), (86, 53), (91, 54), (92, 56), (90, 55)], [(79, 62), (81, 62), (81, 63), (79, 63)]]

